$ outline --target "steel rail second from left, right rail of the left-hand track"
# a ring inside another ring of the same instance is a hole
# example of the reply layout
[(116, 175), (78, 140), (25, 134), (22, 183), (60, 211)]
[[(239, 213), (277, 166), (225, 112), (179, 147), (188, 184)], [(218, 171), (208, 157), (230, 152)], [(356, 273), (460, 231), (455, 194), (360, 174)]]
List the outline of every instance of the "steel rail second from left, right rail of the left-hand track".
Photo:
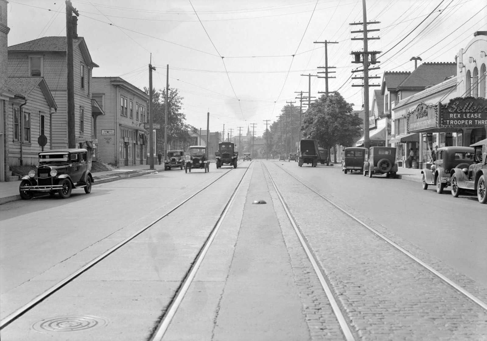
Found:
[[(252, 164), (252, 162), (253, 161), (251, 161), (249, 163), (249, 165)], [(186, 277), (184, 278), (184, 280), (182, 282), (183, 283), (182, 286), (180, 287), (180, 289), (178, 290), (178, 292), (176, 293), (176, 295), (172, 299), (172, 301), (171, 301), (171, 303), (169, 305), (169, 308), (166, 310), (165, 315), (163, 316), (161, 322), (157, 326), (154, 334), (150, 338), (150, 341), (161, 341), (162, 338), (164, 337), (164, 334), (168, 330), (169, 324), (171, 323), (172, 318), (176, 314), (176, 311), (178, 310), (179, 306), (183, 302), (183, 299), (184, 299), (184, 297), (185, 297), (185, 295), (187, 293), (187, 290), (189, 289), (189, 286), (191, 285), (194, 277), (196, 276), (196, 273), (198, 272), (198, 269), (199, 269), (201, 263), (203, 262), (203, 259), (206, 256), (206, 252), (208, 251), (209, 247), (211, 246), (211, 243), (215, 239), (216, 233), (218, 232), (218, 230), (220, 229), (220, 226), (222, 225), (223, 219), (225, 218), (228, 210), (230, 209), (230, 206), (233, 203), (233, 200), (237, 196), (237, 193), (238, 193), (240, 187), (242, 187), (242, 183), (244, 181), (245, 175), (248, 172), (248, 169), (249, 169), (249, 167), (247, 167), (247, 169), (245, 170), (245, 173), (242, 176), (242, 179), (240, 179), (237, 187), (233, 191), (233, 194), (228, 199), (228, 201), (227, 201), (227, 203), (225, 205), (225, 208), (222, 211), (222, 214), (218, 218), (215, 226), (213, 227), (213, 230), (211, 231), (210, 235), (206, 239), (206, 242), (203, 245), (202, 249), (200, 250), (200, 252), (196, 256), (196, 258), (195, 258), (195, 260), (193, 262), (193, 265), (191, 266), (191, 268), (187, 272), (187, 275), (186, 275)]]

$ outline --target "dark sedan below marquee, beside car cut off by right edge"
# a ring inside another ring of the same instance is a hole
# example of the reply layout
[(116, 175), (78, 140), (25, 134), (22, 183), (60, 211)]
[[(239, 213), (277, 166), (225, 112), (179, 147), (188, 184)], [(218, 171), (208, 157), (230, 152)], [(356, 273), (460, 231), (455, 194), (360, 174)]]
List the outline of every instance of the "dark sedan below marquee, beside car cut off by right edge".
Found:
[(468, 168), (474, 163), (473, 147), (449, 146), (436, 150), (436, 160), (431, 169), (422, 169), (422, 187), (428, 189), (428, 185), (436, 186), (436, 192), (442, 194), (445, 187), (451, 184), (451, 175), (454, 169)]

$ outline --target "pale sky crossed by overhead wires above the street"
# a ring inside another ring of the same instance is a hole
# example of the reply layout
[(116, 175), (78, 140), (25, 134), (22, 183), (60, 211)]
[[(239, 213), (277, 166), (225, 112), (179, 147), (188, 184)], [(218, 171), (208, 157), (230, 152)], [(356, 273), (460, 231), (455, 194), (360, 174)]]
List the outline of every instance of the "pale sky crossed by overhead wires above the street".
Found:
[[(8, 0), (8, 45), (66, 35), (64, 0)], [(352, 73), (351, 51), (363, 50), (362, 0), (72, 0), (93, 61), (94, 77), (120, 76), (139, 89), (176, 88), (187, 123), (237, 136), (254, 125), (261, 136), (281, 109), (299, 106), (299, 92), (325, 91), (328, 44), (329, 91), (355, 110), (363, 105), (362, 76)], [(413, 71), (422, 62), (453, 62), (476, 31), (487, 31), (485, 0), (366, 0), (369, 51), (379, 51), (380, 84), (385, 71)], [(318, 42), (318, 43), (315, 43)], [(421, 61), (419, 61), (421, 63)], [(419, 64), (418, 64), (419, 65)], [(304, 76), (303, 76), (304, 75)], [(371, 87), (372, 94), (380, 87)], [(303, 94), (304, 97), (307, 93)], [(298, 97), (298, 99), (296, 98)], [(313, 99), (312, 99), (313, 100)], [(288, 103), (293, 102), (293, 103)], [(306, 107), (303, 107), (305, 110)]]

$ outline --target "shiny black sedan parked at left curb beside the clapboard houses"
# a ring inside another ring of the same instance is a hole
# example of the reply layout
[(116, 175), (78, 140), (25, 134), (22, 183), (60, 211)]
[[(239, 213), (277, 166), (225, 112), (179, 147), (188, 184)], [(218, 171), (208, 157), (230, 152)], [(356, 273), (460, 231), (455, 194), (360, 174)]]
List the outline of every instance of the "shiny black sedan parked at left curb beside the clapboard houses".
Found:
[(39, 165), (22, 177), (19, 186), (22, 199), (32, 199), (37, 193), (71, 196), (73, 188), (91, 192), (93, 176), (88, 151), (83, 148), (53, 149), (39, 153)]

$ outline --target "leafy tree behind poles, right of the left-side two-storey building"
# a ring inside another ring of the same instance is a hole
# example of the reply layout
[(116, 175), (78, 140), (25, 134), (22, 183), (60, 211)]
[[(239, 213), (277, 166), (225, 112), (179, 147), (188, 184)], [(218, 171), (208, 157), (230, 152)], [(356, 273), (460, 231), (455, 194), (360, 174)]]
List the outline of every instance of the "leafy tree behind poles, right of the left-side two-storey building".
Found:
[[(149, 89), (144, 88), (148, 94)], [(183, 145), (190, 144), (192, 141), (189, 131), (197, 132), (194, 126), (186, 123), (186, 115), (181, 112), (184, 97), (179, 95), (177, 89), (169, 88), (168, 94), (168, 141), (167, 145), (172, 148), (182, 148)], [(154, 111), (153, 123), (161, 125), (160, 133), (157, 135), (157, 149), (163, 149), (164, 129), (166, 121), (166, 89), (153, 90), (152, 110)]]

